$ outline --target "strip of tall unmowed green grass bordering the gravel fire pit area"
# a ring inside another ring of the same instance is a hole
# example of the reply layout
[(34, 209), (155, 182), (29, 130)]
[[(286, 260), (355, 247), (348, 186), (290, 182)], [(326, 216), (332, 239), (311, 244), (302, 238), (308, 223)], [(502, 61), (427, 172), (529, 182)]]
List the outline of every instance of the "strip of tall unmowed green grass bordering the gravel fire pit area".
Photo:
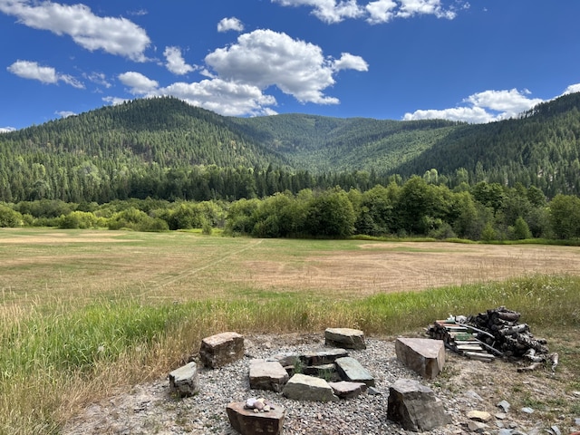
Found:
[[(83, 402), (116, 382), (142, 382), (179, 366), (212, 333), (418, 333), (449, 314), (506, 305), (532, 327), (580, 326), (580, 278), (537, 275), (485, 285), (373, 295), (335, 302), (316, 295), (248, 295), (182, 304), (100, 300), (2, 312), (0, 432), (57, 433)], [(114, 387), (114, 385), (112, 385)], [(111, 388), (112, 388), (111, 387)]]

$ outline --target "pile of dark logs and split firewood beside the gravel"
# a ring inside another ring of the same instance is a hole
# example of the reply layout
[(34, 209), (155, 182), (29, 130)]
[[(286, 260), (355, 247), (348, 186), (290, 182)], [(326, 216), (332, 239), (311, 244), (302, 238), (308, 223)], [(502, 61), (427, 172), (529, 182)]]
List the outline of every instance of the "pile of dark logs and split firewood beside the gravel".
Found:
[(457, 316), (450, 317), (447, 321), (436, 321), (428, 333), (432, 338), (442, 339), (451, 350), (457, 352), (465, 347), (459, 341), (462, 335), (458, 333), (458, 328), (465, 328), (469, 333), (469, 341), (478, 343), (483, 351), (529, 363), (526, 367), (519, 368), (519, 372), (536, 370), (548, 363), (553, 371), (556, 370), (558, 354), (549, 353), (546, 340), (536, 338), (530, 332), (528, 324), (518, 323), (520, 316), (521, 314), (500, 306), (475, 316)]

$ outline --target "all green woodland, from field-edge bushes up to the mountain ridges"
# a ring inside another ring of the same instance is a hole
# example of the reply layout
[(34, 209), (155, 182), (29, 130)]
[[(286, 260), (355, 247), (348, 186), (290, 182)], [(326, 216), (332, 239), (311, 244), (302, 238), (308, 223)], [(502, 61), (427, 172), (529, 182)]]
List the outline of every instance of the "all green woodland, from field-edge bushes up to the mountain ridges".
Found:
[(580, 93), (478, 125), (125, 102), (0, 134), (0, 227), (580, 237), (579, 110)]

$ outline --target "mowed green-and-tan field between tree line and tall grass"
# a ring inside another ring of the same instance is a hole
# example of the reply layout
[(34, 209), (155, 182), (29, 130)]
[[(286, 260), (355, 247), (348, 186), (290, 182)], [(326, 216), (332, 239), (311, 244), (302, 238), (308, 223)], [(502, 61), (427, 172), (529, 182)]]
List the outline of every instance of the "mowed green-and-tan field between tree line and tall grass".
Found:
[(580, 275), (580, 247), (0, 230), (5, 308), (103, 296), (144, 304), (286, 292), (352, 299), (546, 274)]

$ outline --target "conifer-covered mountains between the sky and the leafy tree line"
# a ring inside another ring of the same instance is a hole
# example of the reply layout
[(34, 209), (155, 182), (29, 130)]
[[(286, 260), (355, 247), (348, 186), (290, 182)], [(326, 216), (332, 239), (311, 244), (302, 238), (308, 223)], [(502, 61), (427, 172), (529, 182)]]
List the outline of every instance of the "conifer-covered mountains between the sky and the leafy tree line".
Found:
[(580, 93), (519, 119), (468, 125), (305, 114), (223, 117), (135, 100), (0, 134), (0, 201), (237, 199), (370, 189), (413, 174), (580, 193)]

